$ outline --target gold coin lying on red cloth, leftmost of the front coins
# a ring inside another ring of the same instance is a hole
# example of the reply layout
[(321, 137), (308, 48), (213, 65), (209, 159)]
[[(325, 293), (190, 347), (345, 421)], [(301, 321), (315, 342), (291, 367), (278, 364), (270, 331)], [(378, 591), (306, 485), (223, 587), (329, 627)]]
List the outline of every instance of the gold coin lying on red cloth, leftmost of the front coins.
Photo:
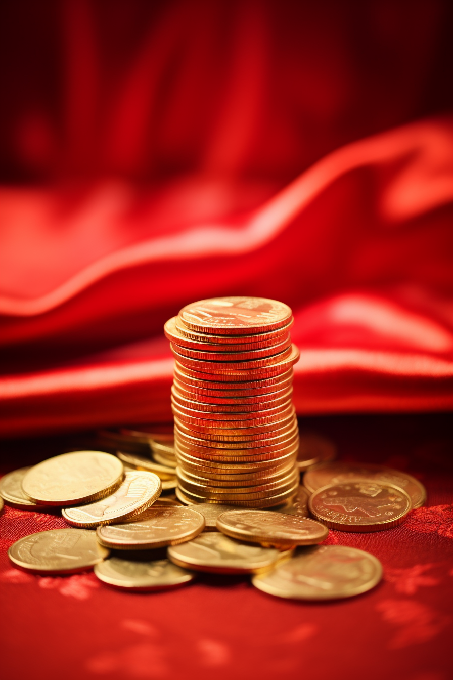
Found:
[(98, 544), (94, 531), (51, 529), (19, 539), (8, 550), (10, 560), (35, 574), (74, 574), (102, 562), (110, 551)]

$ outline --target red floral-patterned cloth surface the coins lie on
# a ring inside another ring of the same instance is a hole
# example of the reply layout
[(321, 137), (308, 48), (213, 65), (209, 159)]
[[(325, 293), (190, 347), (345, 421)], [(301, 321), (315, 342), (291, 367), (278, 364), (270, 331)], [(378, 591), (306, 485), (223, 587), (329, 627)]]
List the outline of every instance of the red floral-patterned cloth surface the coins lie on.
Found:
[[(341, 460), (416, 475), (427, 507), (371, 534), (330, 531), (326, 543), (365, 549), (384, 566), (374, 590), (350, 600), (295, 602), (247, 577), (200, 575), (179, 590), (128, 594), (93, 573), (40, 577), (6, 550), (62, 517), (5, 506), (0, 514), (1, 668), (26, 680), (450, 680), (453, 673), (453, 437), (448, 415), (302, 420)], [(85, 447), (84, 437), (3, 446), (1, 471)]]

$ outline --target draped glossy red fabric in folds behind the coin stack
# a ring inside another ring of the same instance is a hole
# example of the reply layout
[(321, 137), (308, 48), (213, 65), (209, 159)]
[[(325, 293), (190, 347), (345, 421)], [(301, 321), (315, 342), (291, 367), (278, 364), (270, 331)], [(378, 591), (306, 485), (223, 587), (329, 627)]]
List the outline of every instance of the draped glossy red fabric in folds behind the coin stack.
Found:
[(300, 414), (453, 406), (449, 3), (0, 12), (1, 435), (169, 420), (223, 294), (293, 308)]

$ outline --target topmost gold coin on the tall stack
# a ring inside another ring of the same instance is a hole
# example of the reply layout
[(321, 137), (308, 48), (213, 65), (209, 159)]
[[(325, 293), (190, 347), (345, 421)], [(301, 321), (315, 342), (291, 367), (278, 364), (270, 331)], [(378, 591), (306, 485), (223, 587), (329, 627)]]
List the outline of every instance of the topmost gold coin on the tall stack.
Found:
[(288, 305), (276, 300), (234, 296), (186, 305), (178, 314), (178, 324), (197, 333), (252, 335), (286, 326), (291, 318)]

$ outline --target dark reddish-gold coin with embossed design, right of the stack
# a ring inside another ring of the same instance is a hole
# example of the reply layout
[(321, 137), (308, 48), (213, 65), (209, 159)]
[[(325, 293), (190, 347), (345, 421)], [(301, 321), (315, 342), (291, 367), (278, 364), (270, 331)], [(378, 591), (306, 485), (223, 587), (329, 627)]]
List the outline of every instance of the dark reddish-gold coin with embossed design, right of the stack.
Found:
[(342, 531), (380, 531), (404, 522), (412, 508), (401, 488), (377, 481), (329, 484), (310, 496), (308, 509), (326, 526)]

